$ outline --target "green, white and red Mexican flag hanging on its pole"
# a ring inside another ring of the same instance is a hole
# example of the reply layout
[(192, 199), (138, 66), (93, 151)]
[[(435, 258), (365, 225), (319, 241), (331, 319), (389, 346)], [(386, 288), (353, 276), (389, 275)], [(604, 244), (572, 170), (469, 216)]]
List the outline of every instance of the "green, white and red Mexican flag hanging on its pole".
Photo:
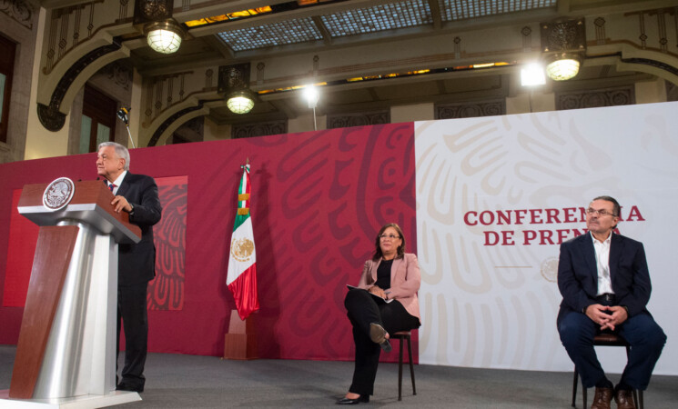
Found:
[(257, 295), (257, 252), (254, 248), (252, 218), (249, 216), (249, 164), (243, 168), (238, 188), (238, 214), (231, 235), (226, 284), (236, 300), (243, 321), (259, 309)]

